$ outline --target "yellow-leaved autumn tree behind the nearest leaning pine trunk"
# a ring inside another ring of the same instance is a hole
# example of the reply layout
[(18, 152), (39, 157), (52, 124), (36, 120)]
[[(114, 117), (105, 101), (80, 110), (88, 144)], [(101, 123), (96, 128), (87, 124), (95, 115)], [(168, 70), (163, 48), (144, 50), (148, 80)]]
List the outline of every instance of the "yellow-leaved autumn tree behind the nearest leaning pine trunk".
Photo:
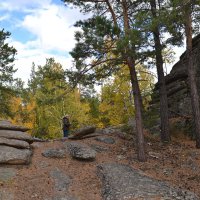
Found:
[[(148, 107), (154, 84), (153, 75), (142, 65), (136, 66), (139, 86), (143, 97), (143, 106)], [(133, 118), (135, 109), (128, 66), (113, 74), (105, 81), (101, 89), (101, 123), (104, 126), (127, 124)]]

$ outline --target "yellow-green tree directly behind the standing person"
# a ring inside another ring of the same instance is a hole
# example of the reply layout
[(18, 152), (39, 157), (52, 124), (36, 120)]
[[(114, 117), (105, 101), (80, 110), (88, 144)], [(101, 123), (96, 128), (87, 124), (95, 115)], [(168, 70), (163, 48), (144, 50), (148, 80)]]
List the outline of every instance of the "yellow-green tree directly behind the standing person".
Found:
[(32, 70), (29, 80), (30, 103), (34, 103), (33, 135), (43, 138), (61, 136), (61, 119), (69, 114), (72, 129), (87, 123), (87, 103), (81, 103), (78, 89), (72, 90), (65, 80), (62, 66), (53, 58)]

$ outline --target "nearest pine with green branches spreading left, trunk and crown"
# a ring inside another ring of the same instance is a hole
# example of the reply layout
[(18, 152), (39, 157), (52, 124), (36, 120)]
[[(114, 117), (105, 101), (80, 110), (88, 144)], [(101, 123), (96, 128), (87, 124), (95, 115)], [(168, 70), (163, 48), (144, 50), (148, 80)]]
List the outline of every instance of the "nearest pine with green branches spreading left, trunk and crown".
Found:
[[(136, 55), (141, 35), (133, 28), (130, 19), (134, 3), (126, 0), (65, 2), (72, 3), (83, 12), (93, 13), (90, 19), (76, 24), (83, 30), (76, 34), (77, 44), (71, 53), (77, 73), (76, 76), (74, 72), (68, 75), (76, 77), (76, 80), (84, 77), (84, 83), (91, 84), (111, 75), (121, 64), (128, 65), (136, 111), (138, 159), (145, 161), (141, 94), (135, 68), (136, 60), (139, 60)], [(92, 62), (88, 63), (88, 58)]]

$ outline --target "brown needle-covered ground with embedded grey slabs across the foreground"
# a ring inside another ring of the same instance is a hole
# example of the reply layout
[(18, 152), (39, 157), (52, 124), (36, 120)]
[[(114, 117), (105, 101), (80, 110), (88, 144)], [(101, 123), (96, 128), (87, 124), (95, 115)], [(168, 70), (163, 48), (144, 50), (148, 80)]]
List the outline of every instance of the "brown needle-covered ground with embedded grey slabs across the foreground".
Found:
[[(34, 142), (30, 165), (1, 166), (0, 200), (199, 199), (194, 192), (200, 196), (200, 151), (192, 142), (163, 147), (148, 138), (148, 161), (140, 163), (132, 141), (114, 133), (106, 137), (115, 142), (78, 141), (96, 149), (91, 161), (71, 158), (66, 146), (72, 140)], [(44, 157), (49, 149), (65, 155)]]

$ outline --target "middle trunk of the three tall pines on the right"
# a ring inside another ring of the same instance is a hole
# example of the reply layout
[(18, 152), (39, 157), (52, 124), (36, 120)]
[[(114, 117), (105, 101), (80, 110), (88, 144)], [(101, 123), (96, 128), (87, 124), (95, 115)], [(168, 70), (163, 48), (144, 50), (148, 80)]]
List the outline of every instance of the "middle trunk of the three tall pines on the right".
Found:
[[(157, 18), (156, 13), (156, 1), (151, 0), (151, 11), (153, 18)], [(156, 68), (158, 74), (158, 85), (159, 85), (159, 97), (160, 97), (160, 121), (161, 121), (161, 141), (169, 142), (169, 114), (168, 114), (168, 99), (167, 90), (165, 84), (165, 76), (163, 70), (163, 58), (162, 58), (162, 45), (160, 42), (160, 33), (158, 26), (155, 26), (153, 30), (153, 37), (156, 51)]]

